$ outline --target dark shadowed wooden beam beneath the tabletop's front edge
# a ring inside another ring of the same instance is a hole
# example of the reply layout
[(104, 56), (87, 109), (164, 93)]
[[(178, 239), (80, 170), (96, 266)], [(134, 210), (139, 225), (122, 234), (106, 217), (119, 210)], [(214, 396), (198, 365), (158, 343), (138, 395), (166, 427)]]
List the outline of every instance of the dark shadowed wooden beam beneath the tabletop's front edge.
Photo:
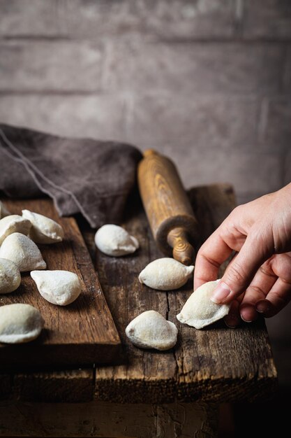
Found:
[(0, 404), (0, 437), (216, 437), (207, 404)]

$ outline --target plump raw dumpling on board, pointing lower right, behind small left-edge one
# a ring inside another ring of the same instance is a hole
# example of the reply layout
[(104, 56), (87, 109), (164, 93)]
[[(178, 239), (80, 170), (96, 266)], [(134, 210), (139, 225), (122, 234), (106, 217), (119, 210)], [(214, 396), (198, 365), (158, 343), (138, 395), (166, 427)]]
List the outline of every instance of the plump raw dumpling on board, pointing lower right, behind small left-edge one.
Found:
[(14, 262), (20, 272), (47, 267), (36, 243), (20, 233), (6, 237), (0, 247), (0, 257)]

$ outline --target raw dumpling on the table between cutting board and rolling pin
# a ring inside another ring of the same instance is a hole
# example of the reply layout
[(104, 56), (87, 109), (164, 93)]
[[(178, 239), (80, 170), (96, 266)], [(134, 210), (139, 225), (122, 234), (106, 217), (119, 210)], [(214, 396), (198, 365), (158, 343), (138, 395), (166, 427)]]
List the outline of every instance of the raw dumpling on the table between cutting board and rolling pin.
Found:
[(135, 237), (119, 225), (107, 224), (100, 227), (95, 234), (97, 248), (104, 254), (119, 257), (134, 253), (139, 247)]

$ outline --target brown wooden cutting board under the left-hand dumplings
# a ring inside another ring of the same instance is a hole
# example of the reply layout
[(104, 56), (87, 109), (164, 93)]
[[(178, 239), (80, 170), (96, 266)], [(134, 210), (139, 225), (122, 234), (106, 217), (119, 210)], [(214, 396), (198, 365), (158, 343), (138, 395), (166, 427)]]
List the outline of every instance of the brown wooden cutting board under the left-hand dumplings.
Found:
[(35, 306), (45, 319), (45, 328), (38, 339), (27, 344), (0, 344), (1, 369), (116, 362), (121, 352), (119, 334), (75, 219), (59, 218), (50, 199), (4, 200), (4, 204), (13, 214), (21, 215), (27, 209), (59, 222), (64, 241), (39, 245), (40, 251), (47, 269), (75, 272), (83, 287), (75, 302), (57, 306), (40, 295), (29, 272), (22, 273), (20, 288), (0, 295), (0, 305)]

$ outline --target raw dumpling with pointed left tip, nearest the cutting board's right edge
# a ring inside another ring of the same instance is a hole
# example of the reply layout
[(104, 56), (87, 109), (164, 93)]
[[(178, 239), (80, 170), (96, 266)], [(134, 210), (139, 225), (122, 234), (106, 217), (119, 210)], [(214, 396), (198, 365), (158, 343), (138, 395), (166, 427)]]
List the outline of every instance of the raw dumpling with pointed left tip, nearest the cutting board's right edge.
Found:
[(66, 306), (79, 297), (82, 285), (77, 274), (70, 271), (31, 271), (38, 292), (48, 302)]

